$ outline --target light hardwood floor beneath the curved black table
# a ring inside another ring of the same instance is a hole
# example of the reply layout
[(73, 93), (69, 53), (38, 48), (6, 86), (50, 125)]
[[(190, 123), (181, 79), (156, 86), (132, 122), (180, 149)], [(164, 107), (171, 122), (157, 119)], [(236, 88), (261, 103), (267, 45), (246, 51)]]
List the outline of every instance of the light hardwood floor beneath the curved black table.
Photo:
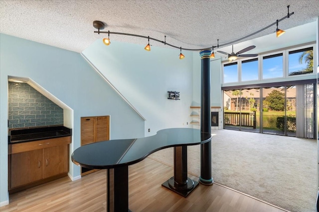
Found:
[[(173, 168), (150, 158), (129, 166), (129, 208), (133, 212), (283, 212), (220, 185), (204, 186), (183, 198), (161, 184)], [(189, 175), (191, 179), (197, 177)], [(106, 170), (72, 182), (68, 177), (9, 196), (0, 212), (105, 212)]]

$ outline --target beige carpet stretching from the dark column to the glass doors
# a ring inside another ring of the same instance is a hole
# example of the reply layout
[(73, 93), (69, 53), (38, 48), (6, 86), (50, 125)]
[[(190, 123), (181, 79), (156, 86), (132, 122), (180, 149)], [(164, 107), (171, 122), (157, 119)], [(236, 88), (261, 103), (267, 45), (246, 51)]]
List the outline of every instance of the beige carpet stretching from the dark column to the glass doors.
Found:
[[(292, 212), (315, 212), (317, 141), (212, 131), (214, 182)], [(188, 173), (200, 175), (200, 145), (187, 147)], [(149, 156), (173, 166), (173, 148)]]

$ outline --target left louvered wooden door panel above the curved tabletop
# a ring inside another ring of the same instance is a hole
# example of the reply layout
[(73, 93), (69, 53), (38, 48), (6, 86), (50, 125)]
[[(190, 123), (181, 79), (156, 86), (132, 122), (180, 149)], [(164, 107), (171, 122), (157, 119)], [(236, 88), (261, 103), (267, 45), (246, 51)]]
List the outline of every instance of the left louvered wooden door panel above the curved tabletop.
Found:
[(95, 141), (95, 117), (81, 118), (81, 145)]

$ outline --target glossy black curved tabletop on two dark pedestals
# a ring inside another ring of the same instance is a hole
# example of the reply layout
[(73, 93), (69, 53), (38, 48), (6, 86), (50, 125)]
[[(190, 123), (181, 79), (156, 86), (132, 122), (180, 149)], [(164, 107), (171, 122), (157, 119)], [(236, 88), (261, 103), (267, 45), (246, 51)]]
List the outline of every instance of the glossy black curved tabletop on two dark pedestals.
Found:
[(114, 168), (137, 163), (163, 148), (202, 144), (211, 141), (211, 137), (197, 129), (164, 129), (151, 137), (101, 141), (81, 146), (72, 153), (72, 161), (85, 168)]

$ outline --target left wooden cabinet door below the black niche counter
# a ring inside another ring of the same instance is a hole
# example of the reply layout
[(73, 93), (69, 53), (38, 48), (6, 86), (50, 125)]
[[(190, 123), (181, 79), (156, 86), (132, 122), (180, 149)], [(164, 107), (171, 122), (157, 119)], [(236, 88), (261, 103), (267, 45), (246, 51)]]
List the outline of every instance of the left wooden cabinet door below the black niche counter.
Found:
[(42, 149), (11, 154), (11, 188), (42, 179)]

